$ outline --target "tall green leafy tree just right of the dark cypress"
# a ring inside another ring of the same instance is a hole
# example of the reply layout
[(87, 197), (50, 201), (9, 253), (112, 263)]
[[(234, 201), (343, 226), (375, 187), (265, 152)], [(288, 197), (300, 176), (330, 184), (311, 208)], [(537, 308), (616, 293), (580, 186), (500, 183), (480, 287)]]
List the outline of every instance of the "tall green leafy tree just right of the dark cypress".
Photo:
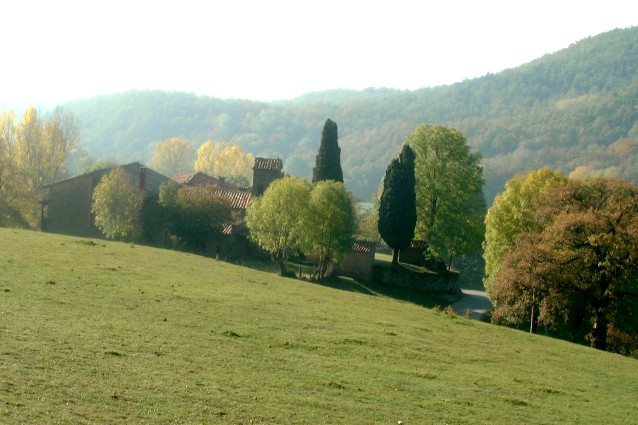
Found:
[(458, 130), (422, 125), (405, 138), (416, 153), (416, 237), (446, 260), (479, 249), (485, 200), (480, 155)]

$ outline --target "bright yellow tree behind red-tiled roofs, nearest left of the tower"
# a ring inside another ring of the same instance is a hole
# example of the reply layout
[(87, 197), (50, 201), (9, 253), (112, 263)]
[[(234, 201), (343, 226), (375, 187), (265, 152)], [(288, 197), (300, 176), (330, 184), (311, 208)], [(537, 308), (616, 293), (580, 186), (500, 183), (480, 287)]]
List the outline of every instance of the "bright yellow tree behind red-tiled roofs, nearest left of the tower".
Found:
[(208, 141), (197, 150), (195, 171), (248, 186), (255, 157), (235, 144)]

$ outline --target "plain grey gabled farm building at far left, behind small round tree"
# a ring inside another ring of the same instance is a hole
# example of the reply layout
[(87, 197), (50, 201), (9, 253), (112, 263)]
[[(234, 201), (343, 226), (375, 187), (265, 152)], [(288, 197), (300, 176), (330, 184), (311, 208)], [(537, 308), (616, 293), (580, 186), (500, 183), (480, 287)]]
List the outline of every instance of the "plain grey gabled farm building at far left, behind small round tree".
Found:
[[(139, 162), (123, 165), (122, 168), (133, 177), (145, 197), (157, 195), (159, 187), (170, 180)], [(42, 230), (72, 236), (103, 237), (102, 232), (95, 227), (91, 204), (93, 189), (111, 170), (92, 171), (44, 186)]]

